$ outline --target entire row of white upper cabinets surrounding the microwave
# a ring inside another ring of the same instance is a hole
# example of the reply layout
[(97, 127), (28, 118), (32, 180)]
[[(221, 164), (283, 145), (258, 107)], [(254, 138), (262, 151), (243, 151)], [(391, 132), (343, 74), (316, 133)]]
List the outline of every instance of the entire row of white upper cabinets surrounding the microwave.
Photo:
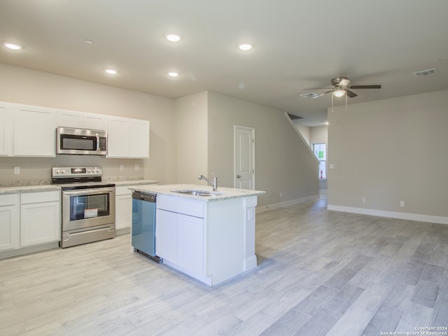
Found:
[(104, 130), (106, 158), (149, 158), (149, 121), (0, 102), (0, 156), (55, 157), (56, 127)]

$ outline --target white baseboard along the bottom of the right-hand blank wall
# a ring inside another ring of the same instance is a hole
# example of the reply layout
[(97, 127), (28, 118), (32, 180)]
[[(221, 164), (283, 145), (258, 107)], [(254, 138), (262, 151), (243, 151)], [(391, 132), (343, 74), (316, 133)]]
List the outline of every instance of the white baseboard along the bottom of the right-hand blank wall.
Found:
[(355, 208), (355, 207), (342, 207), (340, 205), (332, 205), (332, 204), (328, 204), (327, 209), (332, 211), (349, 212), (351, 214), (407, 219), (409, 221), (418, 221), (427, 223), (448, 224), (448, 217), (442, 217), (442, 216), (407, 214), (405, 212), (384, 211), (384, 210)]

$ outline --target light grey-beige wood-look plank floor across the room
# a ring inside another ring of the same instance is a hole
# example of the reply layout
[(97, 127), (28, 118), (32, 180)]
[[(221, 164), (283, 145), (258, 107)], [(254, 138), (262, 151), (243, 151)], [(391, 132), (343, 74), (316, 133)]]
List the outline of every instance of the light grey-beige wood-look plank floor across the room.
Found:
[(130, 235), (0, 260), (0, 335), (377, 336), (448, 326), (448, 225), (327, 211), (325, 199), (256, 221), (258, 267), (213, 288), (130, 253)]

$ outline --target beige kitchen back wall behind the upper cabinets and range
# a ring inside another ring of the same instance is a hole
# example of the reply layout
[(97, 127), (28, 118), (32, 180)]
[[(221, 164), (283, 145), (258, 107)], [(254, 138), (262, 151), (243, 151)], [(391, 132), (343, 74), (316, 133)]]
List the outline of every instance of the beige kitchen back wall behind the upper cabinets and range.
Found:
[[(51, 167), (98, 165), (104, 176), (144, 176), (161, 183), (176, 182), (174, 100), (34, 71), (0, 63), (0, 101), (150, 120), (151, 158), (106, 159), (85, 156), (0, 158), (1, 180), (50, 179)], [(134, 165), (141, 167), (135, 171)], [(124, 166), (120, 172), (119, 165)], [(13, 174), (20, 166), (21, 174)]]

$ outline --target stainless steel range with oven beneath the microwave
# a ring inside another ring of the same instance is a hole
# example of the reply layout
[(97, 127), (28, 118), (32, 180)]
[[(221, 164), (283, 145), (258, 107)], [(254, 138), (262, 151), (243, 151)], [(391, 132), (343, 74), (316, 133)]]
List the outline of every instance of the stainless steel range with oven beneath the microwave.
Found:
[(101, 167), (53, 167), (62, 188), (62, 248), (115, 237), (115, 184), (102, 182)]

